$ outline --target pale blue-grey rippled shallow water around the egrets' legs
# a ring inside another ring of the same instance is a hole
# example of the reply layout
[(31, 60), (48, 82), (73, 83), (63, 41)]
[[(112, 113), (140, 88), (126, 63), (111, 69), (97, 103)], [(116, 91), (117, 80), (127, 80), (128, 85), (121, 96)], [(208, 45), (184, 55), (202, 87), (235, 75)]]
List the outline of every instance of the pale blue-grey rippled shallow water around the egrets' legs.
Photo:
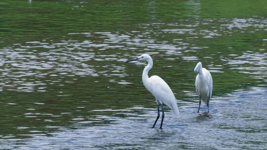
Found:
[[(29, 139), (2, 137), (2, 148), (18, 149), (266, 149), (267, 89), (251, 88), (215, 97), (211, 114), (197, 113), (195, 104), (180, 106), (180, 116), (167, 112), (164, 128), (151, 128), (155, 109), (133, 106), (92, 110), (111, 115), (75, 119), (69, 127)], [(102, 123), (100, 123), (102, 122)], [(104, 123), (105, 122), (105, 123)], [(102, 124), (102, 125), (100, 125)], [(48, 128), (48, 126), (47, 126)], [(22, 127), (18, 130), (23, 130)]]

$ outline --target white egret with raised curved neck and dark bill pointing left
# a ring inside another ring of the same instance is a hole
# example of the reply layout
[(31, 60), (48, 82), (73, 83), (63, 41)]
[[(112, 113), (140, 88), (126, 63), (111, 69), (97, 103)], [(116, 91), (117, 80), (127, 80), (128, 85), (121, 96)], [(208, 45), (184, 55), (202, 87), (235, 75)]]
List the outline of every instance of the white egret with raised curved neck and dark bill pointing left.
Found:
[(153, 76), (148, 77), (148, 72), (153, 67), (152, 58), (148, 54), (143, 54), (139, 57), (128, 60), (126, 61), (126, 63), (131, 62), (131, 61), (146, 61), (148, 63), (147, 66), (143, 70), (142, 81), (146, 89), (150, 91), (156, 98), (157, 107), (158, 107), (158, 116), (152, 128), (155, 127), (160, 117), (159, 104), (161, 104), (161, 110), (162, 110), (162, 119), (161, 119), (161, 124), (160, 124), (160, 128), (162, 128), (162, 123), (164, 119), (164, 109), (163, 109), (162, 103), (170, 107), (176, 115), (179, 114), (179, 109), (176, 104), (176, 98), (174, 96), (174, 93), (172, 92), (169, 85), (159, 76), (153, 75)]

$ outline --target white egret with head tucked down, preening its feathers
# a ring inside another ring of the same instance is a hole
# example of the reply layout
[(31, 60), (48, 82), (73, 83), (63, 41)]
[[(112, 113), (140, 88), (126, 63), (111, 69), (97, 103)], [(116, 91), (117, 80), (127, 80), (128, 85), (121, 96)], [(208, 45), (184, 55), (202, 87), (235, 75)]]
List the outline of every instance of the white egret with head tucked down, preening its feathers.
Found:
[(201, 99), (208, 106), (209, 112), (209, 103), (211, 100), (213, 87), (211, 73), (207, 69), (202, 68), (201, 62), (197, 63), (194, 72), (197, 74), (195, 86), (196, 92), (199, 96), (199, 107), (197, 112), (199, 112)]

